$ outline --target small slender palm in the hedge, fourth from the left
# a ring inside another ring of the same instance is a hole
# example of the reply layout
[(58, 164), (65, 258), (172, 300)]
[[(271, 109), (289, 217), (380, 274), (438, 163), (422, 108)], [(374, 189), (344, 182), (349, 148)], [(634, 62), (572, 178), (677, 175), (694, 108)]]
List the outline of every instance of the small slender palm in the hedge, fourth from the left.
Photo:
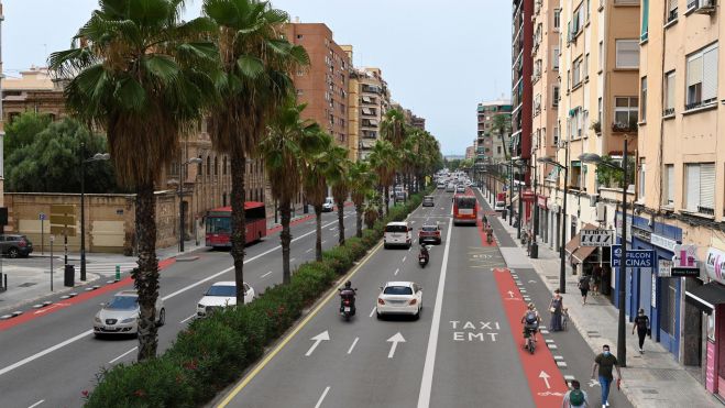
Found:
[(322, 203), (327, 198), (327, 168), (329, 166), (329, 148), (332, 136), (318, 130), (320, 139), (318, 148), (303, 152), (303, 189), (307, 201), (315, 209), (316, 240), (315, 258), (322, 261)]

